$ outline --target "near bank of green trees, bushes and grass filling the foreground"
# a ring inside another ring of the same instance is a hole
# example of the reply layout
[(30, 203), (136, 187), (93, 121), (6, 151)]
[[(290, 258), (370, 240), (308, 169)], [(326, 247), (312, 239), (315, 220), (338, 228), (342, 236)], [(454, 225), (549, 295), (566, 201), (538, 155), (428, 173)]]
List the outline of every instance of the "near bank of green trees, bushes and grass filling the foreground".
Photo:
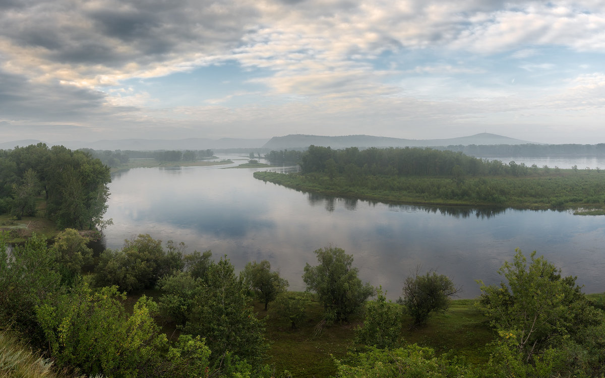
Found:
[(73, 229), (50, 244), (34, 235), (11, 250), (0, 240), (0, 360), (11, 361), (0, 363), (0, 374), (605, 373), (603, 295), (584, 295), (575, 277), (561, 276), (535, 252), (517, 250), (499, 270), (500, 285), (478, 282), (475, 301), (452, 301), (459, 289), (450, 278), (417, 270), (394, 303), (362, 283), (353, 256), (335, 246), (316, 250), (317, 261), (301, 267), (304, 293), (288, 292), (268, 261), (249, 262), (237, 275), (227, 256), (217, 261), (210, 251), (185, 248), (139, 235), (93, 256)]

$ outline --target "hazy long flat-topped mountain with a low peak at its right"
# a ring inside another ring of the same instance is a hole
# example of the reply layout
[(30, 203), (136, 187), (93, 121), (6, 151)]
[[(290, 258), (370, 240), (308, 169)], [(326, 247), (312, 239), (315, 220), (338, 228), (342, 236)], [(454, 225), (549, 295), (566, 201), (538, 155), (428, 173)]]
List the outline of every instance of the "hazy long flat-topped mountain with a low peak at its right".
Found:
[(298, 149), (307, 148), (310, 145), (330, 146), (333, 149), (347, 147), (437, 147), (451, 145), (525, 145), (540, 144), (528, 142), (515, 138), (504, 137), (497, 134), (482, 132), (481, 134), (468, 137), (449, 139), (402, 139), (388, 137), (374, 137), (373, 135), (342, 135), (339, 137), (328, 137), (324, 135), (286, 135), (284, 137), (273, 137), (265, 143), (263, 148), (267, 149)]

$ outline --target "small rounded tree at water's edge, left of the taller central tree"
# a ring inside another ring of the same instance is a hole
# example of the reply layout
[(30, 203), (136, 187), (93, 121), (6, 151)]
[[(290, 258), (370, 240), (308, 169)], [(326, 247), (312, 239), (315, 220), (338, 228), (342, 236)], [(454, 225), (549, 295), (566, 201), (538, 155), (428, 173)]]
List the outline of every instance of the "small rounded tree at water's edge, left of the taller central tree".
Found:
[(264, 303), (265, 311), (269, 302), (274, 301), (289, 286), (288, 281), (280, 277), (280, 272), (271, 272), (271, 264), (267, 260), (248, 262), (240, 275), (244, 284)]

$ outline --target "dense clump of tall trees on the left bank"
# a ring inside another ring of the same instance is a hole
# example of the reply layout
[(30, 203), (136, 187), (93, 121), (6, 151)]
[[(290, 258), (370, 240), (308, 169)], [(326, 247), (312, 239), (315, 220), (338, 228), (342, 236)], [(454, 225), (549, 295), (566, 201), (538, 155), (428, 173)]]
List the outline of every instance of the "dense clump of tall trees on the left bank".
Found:
[(44, 143), (0, 150), (0, 213), (16, 219), (38, 212), (59, 228), (93, 229), (103, 222), (110, 169), (86, 151)]

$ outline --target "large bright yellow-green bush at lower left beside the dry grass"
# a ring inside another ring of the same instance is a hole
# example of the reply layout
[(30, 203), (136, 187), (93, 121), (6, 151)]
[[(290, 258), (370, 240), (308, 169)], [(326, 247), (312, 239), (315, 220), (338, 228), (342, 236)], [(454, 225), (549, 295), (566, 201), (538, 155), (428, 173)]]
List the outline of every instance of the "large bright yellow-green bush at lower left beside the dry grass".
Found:
[(78, 284), (53, 304), (38, 307), (38, 322), (60, 367), (77, 367), (93, 374), (136, 377), (137, 372), (166, 348), (165, 335), (152, 316), (157, 306), (143, 296), (126, 314), (116, 287), (91, 292)]

